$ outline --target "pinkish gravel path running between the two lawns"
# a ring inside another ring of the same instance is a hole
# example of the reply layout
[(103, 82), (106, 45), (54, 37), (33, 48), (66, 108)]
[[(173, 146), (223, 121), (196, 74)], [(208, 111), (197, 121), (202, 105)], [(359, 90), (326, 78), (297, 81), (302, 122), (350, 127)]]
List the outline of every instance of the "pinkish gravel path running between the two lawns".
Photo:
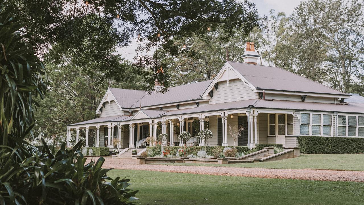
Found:
[[(95, 160), (97, 158), (94, 158)], [(88, 159), (87, 161), (90, 161)], [(264, 162), (262, 162), (264, 163)], [(209, 174), (222, 176), (304, 179), (318, 181), (364, 182), (364, 171), (334, 171), (314, 169), (266, 169), (214, 166), (137, 165), (134, 159), (106, 158), (103, 168), (163, 171), (171, 173)]]

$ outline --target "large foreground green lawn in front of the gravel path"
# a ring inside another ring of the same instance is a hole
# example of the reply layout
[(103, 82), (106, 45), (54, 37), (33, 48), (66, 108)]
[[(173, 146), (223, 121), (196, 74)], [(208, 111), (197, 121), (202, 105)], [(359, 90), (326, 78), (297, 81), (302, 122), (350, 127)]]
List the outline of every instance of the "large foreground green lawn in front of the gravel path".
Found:
[[(364, 183), (111, 170), (131, 179), (137, 204), (354, 205), (364, 204)], [(207, 200), (206, 200), (207, 199)]]

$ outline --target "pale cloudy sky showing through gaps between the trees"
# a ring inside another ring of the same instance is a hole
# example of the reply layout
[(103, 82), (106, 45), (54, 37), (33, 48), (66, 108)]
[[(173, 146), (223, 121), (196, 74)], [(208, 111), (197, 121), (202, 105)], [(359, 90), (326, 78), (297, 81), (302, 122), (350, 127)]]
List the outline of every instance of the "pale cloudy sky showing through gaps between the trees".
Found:
[[(243, 0), (237, 0), (243, 1)], [(276, 12), (285, 12), (286, 15), (292, 13), (294, 7), (297, 7), (302, 0), (250, 0), (258, 9), (258, 13), (261, 16), (269, 15), (270, 9), (276, 10)], [(303, 0), (306, 1), (306, 0)], [(132, 45), (124, 48), (116, 48), (118, 54), (122, 55), (127, 60), (132, 61), (135, 56), (135, 48), (137, 47), (137, 42), (132, 41)]]

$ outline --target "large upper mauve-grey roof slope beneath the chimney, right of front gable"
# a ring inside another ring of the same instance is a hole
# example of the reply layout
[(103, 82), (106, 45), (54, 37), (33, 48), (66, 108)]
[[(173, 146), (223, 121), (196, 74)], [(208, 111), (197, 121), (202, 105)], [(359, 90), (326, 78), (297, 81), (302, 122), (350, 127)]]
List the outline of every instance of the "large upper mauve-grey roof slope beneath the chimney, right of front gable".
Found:
[(267, 90), (347, 95), (280, 67), (228, 61), (254, 87)]

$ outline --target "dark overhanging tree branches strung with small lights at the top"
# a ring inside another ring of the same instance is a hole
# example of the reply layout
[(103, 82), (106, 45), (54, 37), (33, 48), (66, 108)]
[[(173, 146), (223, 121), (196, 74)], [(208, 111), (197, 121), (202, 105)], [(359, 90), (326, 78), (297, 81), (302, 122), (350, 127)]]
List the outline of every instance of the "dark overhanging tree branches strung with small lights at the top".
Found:
[[(71, 63), (85, 70), (96, 67), (115, 80), (127, 67), (119, 64), (114, 49), (131, 45), (135, 38), (139, 53), (151, 51), (158, 43), (178, 55), (182, 53), (178, 40), (203, 36), (207, 28), (223, 30), (225, 38), (235, 30), (247, 34), (262, 20), (253, 3), (236, 0), (4, 0), (4, 4), (15, 7), (15, 15), (28, 23), (25, 31), (33, 33), (28, 43), (47, 63)], [(158, 80), (166, 86), (162, 91), (167, 90), (169, 74), (158, 72), (165, 66), (154, 55), (138, 55), (135, 61), (133, 71), (143, 77), (144, 89), (150, 91)]]

